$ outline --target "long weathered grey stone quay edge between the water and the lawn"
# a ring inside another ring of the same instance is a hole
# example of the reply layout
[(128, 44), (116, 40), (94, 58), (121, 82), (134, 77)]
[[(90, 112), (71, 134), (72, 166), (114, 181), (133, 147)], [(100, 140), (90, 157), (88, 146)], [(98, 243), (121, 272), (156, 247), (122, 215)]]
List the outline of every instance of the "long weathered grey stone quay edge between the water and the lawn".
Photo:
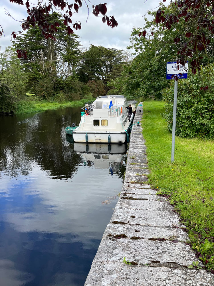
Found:
[[(135, 124), (142, 114), (139, 105)], [(211, 273), (188, 268), (198, 259), (173, 207), (147, 184), (145, 151), (142, 126), (133, 125), (124, 185), (85, 286), (213, 286)]]

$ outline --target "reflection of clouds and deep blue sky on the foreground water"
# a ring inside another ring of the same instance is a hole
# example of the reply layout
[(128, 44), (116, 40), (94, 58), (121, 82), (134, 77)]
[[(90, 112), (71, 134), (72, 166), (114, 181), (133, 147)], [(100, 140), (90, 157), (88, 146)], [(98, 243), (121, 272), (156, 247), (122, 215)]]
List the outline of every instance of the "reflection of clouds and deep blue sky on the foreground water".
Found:
[(35, 166), (1, 180), (1, 285), (83, 285), (116, 204), (101, 201), (122, 181), (84, 164), (70, 179)]

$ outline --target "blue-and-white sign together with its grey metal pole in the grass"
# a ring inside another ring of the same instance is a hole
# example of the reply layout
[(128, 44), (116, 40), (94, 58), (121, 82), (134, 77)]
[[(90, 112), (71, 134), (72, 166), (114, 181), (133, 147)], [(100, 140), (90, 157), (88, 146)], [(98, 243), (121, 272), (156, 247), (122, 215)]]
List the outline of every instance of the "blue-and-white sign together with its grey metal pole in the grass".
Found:
[(177, 112), (177, 82), (178, 78), (187, 78), (188, 61), (185, 65), (177, 64), (176, 61), (167, 62), (166, 65), (166, 79), (172, 80), (177, 76), (174, 86), (174, 103), (173, 103), (173, 121), (172, 121), (172, 150), (171, 163), (174, 162), (175, 156), (175, 126), (176, 126), (176, 112)]

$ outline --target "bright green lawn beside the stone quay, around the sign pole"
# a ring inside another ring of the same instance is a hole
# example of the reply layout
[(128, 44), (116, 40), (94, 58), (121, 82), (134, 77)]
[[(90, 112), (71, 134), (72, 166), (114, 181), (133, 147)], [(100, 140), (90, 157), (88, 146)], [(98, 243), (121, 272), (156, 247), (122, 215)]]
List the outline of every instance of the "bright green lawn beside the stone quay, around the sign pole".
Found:
[(175, 207), (197, 257), (214, 273), (214, 140), (176, 136), (171, 163), (171, 133), (161, 117), (164, 103), (143, 105), (149, 182)]

